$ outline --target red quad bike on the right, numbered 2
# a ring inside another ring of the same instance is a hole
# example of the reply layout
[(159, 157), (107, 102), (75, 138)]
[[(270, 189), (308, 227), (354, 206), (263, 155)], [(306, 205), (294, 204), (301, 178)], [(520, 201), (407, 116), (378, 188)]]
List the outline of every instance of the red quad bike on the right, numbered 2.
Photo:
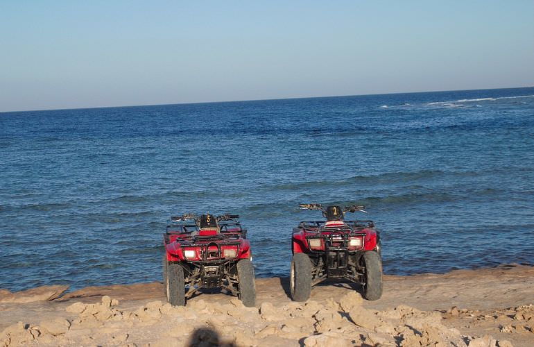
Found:
[(311, 286), (327, 278), (344, 278), (363, 287), (363, 297), (382, 295), (380, 236), (372, 221), (345, 221), (346, 212), (365, 212), (364, 206), (300, 204), (320, 210), (327, 221), (301, 221), (293, 228), (290, 289), (294, 301), (307, 301)]

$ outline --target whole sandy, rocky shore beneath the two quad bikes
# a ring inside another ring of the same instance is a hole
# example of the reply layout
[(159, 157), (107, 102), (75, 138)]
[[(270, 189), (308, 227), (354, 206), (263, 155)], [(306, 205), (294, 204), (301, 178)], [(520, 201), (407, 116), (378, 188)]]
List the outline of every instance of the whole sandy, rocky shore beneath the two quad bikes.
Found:
[[(160, 282), (0, 290), (0, 346), (534, 346), (534, 267), (384, 276), (384, 296), (325, 282), (306, 303), (257, 279), (257, 307), (226, 294), (166, 303)], [(66, 292), (67, 291), (67, 292)]]

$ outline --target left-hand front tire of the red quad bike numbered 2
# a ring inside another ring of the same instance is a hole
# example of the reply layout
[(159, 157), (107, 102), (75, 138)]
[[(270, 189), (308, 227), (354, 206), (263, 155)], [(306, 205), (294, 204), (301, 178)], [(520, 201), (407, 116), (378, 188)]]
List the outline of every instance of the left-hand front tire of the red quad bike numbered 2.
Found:
[(295, 253), (291, 260), (289, 290), (294, 301), (307, 301), (311, 294), (311, 261), (307, 254)]

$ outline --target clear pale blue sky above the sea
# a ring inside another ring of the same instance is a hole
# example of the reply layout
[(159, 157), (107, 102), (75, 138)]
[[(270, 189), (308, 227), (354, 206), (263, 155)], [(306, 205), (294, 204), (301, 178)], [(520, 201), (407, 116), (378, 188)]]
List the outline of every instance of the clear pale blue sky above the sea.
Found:
[(0, 1), (0, 111), (534, 85), (534, 1)]

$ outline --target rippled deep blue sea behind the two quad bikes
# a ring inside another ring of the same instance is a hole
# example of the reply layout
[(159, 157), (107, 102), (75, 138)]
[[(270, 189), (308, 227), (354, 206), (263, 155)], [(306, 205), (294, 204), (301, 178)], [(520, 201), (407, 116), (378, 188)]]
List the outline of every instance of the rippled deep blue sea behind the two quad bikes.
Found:
[(534, 263), (534, 87), (0, 113), (0, 288), (160, 280), (232, 212), (287, 276), (298, 203), (358, 203), (390, 274)]

